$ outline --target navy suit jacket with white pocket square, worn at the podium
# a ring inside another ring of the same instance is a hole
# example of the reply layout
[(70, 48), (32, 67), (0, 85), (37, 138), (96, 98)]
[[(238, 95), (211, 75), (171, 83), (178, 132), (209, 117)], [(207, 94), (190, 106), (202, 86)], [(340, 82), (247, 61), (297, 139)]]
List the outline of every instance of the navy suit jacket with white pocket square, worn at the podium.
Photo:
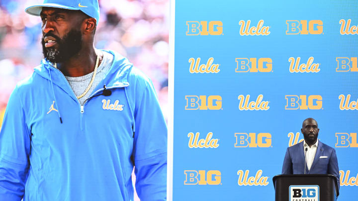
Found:
[[(283, 175), (304, 174), (305, 156), (303, 142), (304, 141), (287, 148), (282, 165)], [(337, 178), (337, 186), (339, 189), (339, 168), (336, 150), (334, 148), (318, 140), (317, 151), (311, 169), (308, 170), (307, 165), (305, 168), (306, 174), (334, 175)]]

